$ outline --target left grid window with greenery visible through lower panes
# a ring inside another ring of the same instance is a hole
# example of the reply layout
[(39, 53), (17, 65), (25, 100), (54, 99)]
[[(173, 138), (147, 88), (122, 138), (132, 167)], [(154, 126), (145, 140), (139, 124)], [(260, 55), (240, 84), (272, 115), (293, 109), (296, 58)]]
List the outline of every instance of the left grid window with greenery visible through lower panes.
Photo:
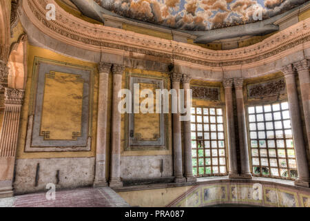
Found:
[(227, 175), (223, 117), (222, 108), (192, 108), (192, 157), (195, 176)]

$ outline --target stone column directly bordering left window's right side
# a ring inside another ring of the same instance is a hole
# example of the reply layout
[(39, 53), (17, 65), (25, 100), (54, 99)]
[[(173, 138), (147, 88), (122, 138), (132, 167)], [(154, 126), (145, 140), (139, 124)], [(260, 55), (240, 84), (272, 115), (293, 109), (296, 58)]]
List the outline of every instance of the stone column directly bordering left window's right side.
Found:
[(240, 178), (238, 174), (237, 164), (237, 148), (234, 122), (234, 104), (232, 97), (232, 86), (234, 79), (224, 79), (223, 86), (225, 88), (225, 102), (226, 102), (226, 119), (227, 119), (227, 140), (229, 151), (229, 178)]

